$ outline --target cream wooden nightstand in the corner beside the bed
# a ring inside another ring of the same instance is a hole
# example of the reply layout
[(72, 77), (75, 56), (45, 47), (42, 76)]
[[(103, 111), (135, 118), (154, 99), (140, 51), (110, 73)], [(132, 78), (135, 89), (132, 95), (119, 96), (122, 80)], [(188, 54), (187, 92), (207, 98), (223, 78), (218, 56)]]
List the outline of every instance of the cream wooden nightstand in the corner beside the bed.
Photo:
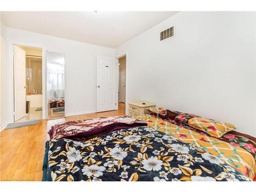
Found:
[(129, 116), (143, 115), (145, 109), (150, 108), (151, 106), (156, 106), (156, 104), (146, 101), (129, 102)]

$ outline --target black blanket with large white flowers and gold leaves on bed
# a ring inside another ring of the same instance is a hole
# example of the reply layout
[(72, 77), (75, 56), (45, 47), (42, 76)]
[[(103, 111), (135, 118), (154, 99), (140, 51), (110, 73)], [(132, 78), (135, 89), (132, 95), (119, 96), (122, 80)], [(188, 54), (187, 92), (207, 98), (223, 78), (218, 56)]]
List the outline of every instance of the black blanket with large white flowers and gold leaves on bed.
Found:
[(50, 141), (53, 181), (249, 181), (193, 144), (139, 126), (91, 140)]

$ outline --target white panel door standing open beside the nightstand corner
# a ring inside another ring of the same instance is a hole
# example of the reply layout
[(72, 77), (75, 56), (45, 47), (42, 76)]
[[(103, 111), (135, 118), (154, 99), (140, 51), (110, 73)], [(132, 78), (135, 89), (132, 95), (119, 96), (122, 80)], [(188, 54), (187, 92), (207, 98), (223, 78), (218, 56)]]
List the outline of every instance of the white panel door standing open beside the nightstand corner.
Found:
[(97, 56), (96, 65), (96, 112), (116, 110), (116, 58)]

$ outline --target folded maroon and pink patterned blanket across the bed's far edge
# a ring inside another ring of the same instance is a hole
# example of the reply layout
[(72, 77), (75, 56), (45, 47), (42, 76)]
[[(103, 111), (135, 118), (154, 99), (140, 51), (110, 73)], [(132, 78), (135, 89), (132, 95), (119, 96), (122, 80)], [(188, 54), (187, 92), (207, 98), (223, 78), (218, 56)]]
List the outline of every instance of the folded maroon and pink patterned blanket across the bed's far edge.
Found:
[(50, 139), (70, 138), (84, 141), (120, 129), (144, 125), (147, 124), (127, 116), (101, 117), (57, 123), (48, 134)]

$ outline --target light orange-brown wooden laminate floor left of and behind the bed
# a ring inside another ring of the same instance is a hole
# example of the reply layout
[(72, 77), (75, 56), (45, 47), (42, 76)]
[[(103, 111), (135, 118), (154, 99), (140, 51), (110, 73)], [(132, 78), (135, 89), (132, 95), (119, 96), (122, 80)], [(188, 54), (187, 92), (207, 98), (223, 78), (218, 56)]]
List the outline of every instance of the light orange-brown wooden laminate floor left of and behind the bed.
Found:
[(61, 121), (91, 119), (125, 114), (125, 104), (119, 110), (40, 120), (39, 124), (0, 132), (0, 181), (41, 181), (45, 142), (50, 127)]

